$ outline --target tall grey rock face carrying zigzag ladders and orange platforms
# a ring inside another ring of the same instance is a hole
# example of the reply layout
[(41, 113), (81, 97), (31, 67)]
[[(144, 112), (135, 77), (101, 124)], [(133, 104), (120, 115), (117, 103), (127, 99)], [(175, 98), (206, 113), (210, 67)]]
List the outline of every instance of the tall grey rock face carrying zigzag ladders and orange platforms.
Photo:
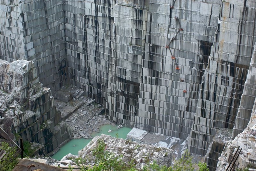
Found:
[(136, 127), (188, 137), (219, 9), (220, 1), (149, 2)]

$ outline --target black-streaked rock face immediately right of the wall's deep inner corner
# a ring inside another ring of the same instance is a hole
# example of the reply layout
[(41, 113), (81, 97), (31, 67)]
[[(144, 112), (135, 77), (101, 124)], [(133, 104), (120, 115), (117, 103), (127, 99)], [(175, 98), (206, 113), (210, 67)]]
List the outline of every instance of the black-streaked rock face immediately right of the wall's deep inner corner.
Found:
[(115, 2), (75, 0), (64, 3), (70, 81), (106, 106)]

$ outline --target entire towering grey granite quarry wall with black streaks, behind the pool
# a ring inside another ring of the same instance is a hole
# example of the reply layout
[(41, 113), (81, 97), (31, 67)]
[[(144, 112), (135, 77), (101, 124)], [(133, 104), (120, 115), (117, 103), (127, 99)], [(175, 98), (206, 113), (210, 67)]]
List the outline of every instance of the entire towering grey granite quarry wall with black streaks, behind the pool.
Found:
[(72, 83), (108, 119), (205, 155), (218, 128), (235, 137), (249, 122), (255, 3), (5, 0), (0, 58), (32, 60), (53, 94)]

